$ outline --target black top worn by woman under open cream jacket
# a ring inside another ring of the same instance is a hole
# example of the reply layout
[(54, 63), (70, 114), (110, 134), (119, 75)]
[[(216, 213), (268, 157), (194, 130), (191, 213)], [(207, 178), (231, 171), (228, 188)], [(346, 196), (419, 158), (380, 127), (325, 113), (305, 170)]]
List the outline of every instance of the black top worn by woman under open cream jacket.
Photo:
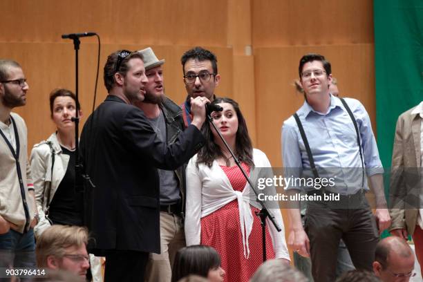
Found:
[(50, 203), (48, 217), (54, 224), (82, 225), (82, 194), (75, 192), (75, 151), (62, 147), (62, 153), (69, 156), (68, 168)]

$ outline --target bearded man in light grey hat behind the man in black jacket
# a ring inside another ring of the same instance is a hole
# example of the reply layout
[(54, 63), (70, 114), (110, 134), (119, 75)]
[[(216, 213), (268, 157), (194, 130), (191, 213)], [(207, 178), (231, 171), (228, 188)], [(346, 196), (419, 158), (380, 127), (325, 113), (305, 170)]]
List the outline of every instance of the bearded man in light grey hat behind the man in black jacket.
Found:
[[(144, 57), (147, 86), (145, 99), (136, 102), (162, 141), (172, 144), (184, 129), (182, 110), (164, 95), (164, 59), (151, 48), (139, 50)], [(185, 246), (183, 210), (185, 207), (185, 165), (174, 171), (158, 169), (160, 176), (160, 254), (151, 253), (145, 281), (171, 281), (171, 265), (176, 252)]]

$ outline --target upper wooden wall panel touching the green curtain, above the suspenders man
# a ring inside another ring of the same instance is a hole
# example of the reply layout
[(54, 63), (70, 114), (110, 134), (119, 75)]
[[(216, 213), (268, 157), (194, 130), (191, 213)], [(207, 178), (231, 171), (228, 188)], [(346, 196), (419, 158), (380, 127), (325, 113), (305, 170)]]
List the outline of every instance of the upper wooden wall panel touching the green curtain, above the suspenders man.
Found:
[(252, 41), (255, 48), (372, 43), (373, 1), (252, 0)]

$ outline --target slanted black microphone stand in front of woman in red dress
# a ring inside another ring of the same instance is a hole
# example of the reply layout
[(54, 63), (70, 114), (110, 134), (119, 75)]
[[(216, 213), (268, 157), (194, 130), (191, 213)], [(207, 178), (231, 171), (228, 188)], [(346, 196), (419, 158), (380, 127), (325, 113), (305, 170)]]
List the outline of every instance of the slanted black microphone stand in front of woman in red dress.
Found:
[(272, 224), (274, 225), (274, 227), (276, 228), (278, 232), (281, 232), (282, 229), (276, 223), (276, 220), (274, 220), (274, 215), (268, 211), (265, 203), (259, 199), (259, 193), (257, 193), (256, 189), (254, 188), (254, 185), (252, 184), (250, 178), (247, 176), (247, 173), (245, 172), (243, 167), (241, 167), (241, 162), (239, 162), (238, 158), (236, 158), (234, 152), (231, 150), (231, 148), (227, 144), (225, 138), (223, 138), (222, 133), (220, 133), (220, 131), (217, 129), (216, 124), (213, 123), (213, 118), (210, 115), (211, 112), (207, 109), (208, 108), (207, 106), (208, 105), (206, 104), (206, 115), (207, 115), (207, 120), (209, 121), (209, 124), (212, 124), (212, 126), (214, 127), (214, 130), (216, 130), (216, 132), (218, 133), (219, 138), (223, 141), (223, 144), (225, 144), (226, 149), (228, 149), (229, 153), (231, 153), (232, 158), (234, 158), (236, 165), (239, 167), (239, 169), (241, 169), (241, 172), (243, 173), (244, 178), (247, 180), (248, 184), (250, 184), (250, 187), (252, 191), (254, 191), (254, 194), (256, 194), (257, 202), (261, 205), (261, 210), (260, 212), (256, 212), (256, 216), (260, 217), (260, 222), (261, 222), (261, 236), (263, 238), (262, 242), (263, 242), (263, 263), (264, 263), (266, 261), (266, 218), (268, 217), (270, 219), (270, 222), (272, 222)]

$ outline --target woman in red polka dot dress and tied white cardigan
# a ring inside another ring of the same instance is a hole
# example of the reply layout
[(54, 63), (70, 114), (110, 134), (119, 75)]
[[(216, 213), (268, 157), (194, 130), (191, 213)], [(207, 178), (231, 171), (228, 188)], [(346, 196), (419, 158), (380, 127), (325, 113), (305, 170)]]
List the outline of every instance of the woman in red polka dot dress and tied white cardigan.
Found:
[[(270, 167), (265, 153), (252, 148), (238, 104), (229, 98), (218, 98), (212, 104), (223, 107), (222, 112), (212, 113), (213, 122), (247, 174), (254, 178), (259, 168)], [(255, 216), (260, 206), (216, 131), (205, 125), (203, 133), (209, 142), (187, 166), (187, 245), (214, 247), (222, 258), (226, 282), (249, 281), (263, 263), (260, 219)], [(267, 220), (267, 259), (289, 263), (281, 211), (274, 208), (272, 213), (282, 231), (277, 232)]]

